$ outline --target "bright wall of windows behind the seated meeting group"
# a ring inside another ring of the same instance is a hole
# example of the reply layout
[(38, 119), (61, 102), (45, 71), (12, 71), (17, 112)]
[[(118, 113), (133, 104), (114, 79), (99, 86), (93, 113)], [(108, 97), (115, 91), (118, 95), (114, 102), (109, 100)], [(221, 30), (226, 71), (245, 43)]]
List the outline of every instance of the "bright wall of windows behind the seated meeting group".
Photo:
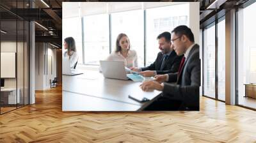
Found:
[[(138, 66), (148, 66), (159, 52), (159, 34), (171, 32), (179, 25), (189, 26), (189, 3), (169, 6), (140, 4), (102, 4), (94, 12), (88, 10), (90, 5), (77, 4), (76, 8), (81, 10), (77, 15), (72, 11), (64, 13), (63, 39), (68, 36), (75, 38), (79, 63), (99, 65), (100, 60), (115, 51), (118, 34), (125, 33), (131, 42), (131, 49), (137, 52)], [(84, 9), (81, 6), (85, 6)]]

